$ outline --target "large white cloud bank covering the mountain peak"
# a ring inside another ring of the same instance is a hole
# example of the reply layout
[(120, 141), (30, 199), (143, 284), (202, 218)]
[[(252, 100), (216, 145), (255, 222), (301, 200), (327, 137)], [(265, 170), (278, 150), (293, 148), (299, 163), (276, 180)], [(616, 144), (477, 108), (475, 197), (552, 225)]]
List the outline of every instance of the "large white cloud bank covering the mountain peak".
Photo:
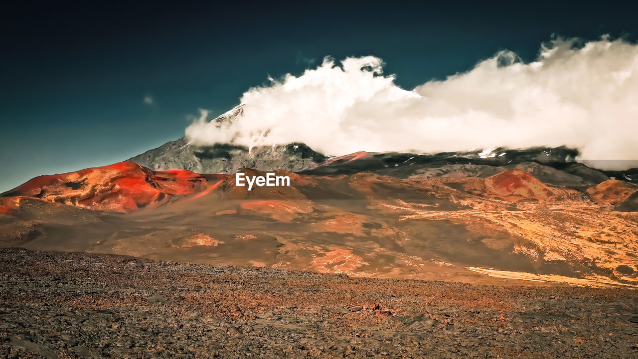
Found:
[[(193, 144), (305, 142), (327, 155), (568, 146), (584, 160), (638, 160), (638, 45), (557, 38), (523, 63), (503, 51), (408, 91), (378, 57), (349, 57), (242, 95), (236, 121), (186, 128)], [(635, 166), (634, 166), (635, 167)]]

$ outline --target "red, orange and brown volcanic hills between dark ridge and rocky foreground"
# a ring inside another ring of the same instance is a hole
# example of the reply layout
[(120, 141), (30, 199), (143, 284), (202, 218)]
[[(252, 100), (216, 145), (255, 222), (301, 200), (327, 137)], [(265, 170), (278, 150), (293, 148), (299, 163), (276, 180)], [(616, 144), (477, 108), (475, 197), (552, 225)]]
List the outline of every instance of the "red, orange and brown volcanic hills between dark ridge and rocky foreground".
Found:
[[(547, 168), (555, 181), (570, 178)], [(0, 245), (359, 277), (638, 287), (627, 182), (558, 185), (517, 168), (427, 178), (274, 172), (290, 187), (248, 190), (232, 175), (133, 162), (43, 176), (0, 197)]]

